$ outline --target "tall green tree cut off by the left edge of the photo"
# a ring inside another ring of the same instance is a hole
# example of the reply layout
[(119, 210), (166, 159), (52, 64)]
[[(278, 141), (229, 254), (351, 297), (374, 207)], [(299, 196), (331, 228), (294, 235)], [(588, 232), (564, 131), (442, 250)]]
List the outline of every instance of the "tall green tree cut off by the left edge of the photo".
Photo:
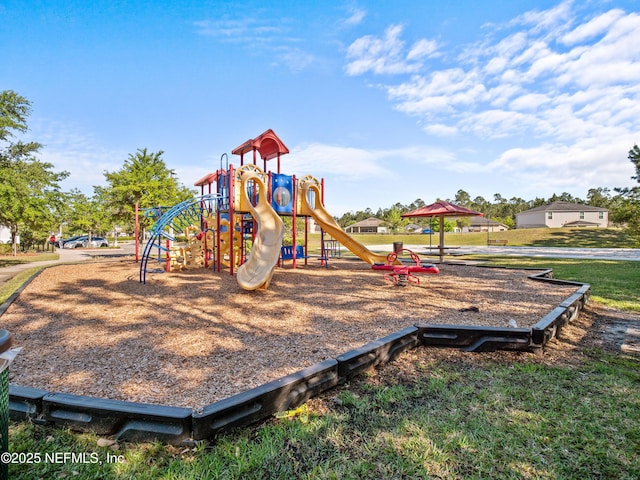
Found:
[(10, 90), (0, 93), (0, 225), (11, 231), (14, 255), (21, 229), (44, 238), (53, 229), (59, 182), (69, 175), (35, 158), (39, 143), (10, 141), (15, 132), (27, 130), (30, 112), (26, 98)]

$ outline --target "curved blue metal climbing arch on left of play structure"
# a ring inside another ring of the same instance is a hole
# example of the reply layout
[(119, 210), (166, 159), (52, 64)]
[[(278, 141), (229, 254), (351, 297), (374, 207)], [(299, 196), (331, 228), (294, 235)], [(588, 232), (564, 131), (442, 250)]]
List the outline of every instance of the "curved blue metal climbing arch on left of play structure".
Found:
[(178, 203), (162, 213), (151, 226), (149, 240), (144, 247), (140, 262), (141, 283), (147, 283), (147, 272), (150, 271), (147, 266), (153, 252), (158, 252), (158, 259), (162, 253), (167, 252), (167, 247), (162, 244), (162, 240), (175, 241), (177, 233), (184, 232), (191, 225), (201, 225), (204, 217), (216, 211), (219, 200), (220, 195), (216, 193), (202, 195)]

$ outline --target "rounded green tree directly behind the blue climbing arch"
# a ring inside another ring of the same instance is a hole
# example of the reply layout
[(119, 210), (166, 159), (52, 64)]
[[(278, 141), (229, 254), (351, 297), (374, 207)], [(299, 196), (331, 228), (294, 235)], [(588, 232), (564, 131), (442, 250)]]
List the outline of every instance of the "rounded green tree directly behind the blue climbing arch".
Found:
[[(140, 209), (172, 206), (194, 196), (194, 191), (174, 178), (173, 171), (162, 159), (163, 153), (138, 149), (135, 154), (129, 154), (120, 170), (104, 173), (108, 186), (97, 192), (107, 199), (115, 219), (132, 225), (136, 204)], [(150, 222), (140, 217), (143, 228)]]

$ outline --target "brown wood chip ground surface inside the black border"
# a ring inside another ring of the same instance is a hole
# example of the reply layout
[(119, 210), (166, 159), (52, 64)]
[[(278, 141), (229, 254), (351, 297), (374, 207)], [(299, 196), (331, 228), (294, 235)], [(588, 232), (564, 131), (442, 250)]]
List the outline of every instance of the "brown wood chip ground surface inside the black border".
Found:
[(143, 285), (132, 261), (49, 268), (2, 316), (23, 347), (10, 381), (197, 409), (416, 323), (530, 327), (577, 289), (524, 270), (440, 269), (398, 287), (362, 262), (310, 259), (248, 292), (228, 272)]

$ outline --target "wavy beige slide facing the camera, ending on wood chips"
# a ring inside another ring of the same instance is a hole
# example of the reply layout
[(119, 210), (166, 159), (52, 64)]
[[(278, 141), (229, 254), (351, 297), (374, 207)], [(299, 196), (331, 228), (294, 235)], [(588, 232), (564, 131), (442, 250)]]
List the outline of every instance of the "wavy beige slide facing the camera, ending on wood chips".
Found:
[[(249, 258), (238, 268), (236, 279), (245, 290), (267, 289), (280, 257), (284, 223), (267, 200), (264, 172), (255, 165), (245, 165), (238, 173), (241, 194), (257, 225), (257, 232)], [(258, 189), (258, 204), (255, 207), (247, 192), (247, 184), (251, 180)]]

